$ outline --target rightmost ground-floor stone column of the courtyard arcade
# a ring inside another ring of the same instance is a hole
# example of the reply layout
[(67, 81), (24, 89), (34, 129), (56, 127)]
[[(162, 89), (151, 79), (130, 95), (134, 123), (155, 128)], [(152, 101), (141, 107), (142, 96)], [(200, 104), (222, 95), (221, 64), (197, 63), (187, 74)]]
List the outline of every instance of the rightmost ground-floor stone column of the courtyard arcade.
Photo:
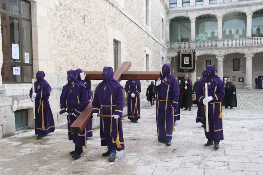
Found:
[(245, 55), (246, 58), (246, 77), (245, 77), (245, 89), (253, 90), (252, 87), (252, 57), (253, 54)]

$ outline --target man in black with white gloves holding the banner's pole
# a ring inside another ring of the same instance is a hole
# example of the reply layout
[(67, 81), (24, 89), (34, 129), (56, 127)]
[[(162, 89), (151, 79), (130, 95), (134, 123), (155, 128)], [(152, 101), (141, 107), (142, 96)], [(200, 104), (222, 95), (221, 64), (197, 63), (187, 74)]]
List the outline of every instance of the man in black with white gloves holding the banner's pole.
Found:
[(189, 111), (192, 110), (193, 105), (193, 84), (192, 81), (188, 78), (188, 74), (184, 74), (184, 79), (181, 80), (180, 84), (180, 108), (185, 107), (184, 110), (189, 108)]

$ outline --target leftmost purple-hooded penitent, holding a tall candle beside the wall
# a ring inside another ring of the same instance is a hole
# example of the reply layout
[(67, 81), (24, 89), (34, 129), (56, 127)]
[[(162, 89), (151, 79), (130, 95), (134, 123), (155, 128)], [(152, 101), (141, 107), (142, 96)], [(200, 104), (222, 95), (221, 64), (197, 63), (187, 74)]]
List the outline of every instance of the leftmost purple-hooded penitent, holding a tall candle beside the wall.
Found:
[[(36, 119), (35, 119), (35, 131), (36, 134), (46, 135), (50, 132), (54, 132), (55, 125), (52, 115), (52, 111), (49, 105), (49, 95), (51, 87), (49, 83), (44, 80), (45, 73), (43, 71), (37, 72), (37, 81), (34, 83), (36, 106)], [(30, 98), (32, 97), (32, 88), (30, 90)]]

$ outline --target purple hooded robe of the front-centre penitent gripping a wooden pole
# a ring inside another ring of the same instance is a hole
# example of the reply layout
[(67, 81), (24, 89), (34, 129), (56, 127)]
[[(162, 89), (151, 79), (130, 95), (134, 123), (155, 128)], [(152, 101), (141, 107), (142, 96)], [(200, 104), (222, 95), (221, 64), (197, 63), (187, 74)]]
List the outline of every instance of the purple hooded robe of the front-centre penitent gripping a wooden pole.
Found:
[[(123, 88), (113, 78), (111, 67), (103, 68), (103, 81), (98, 84), (92, 101), (93, 113), (102, 115), (119, 115), (120, 118), (100, 117), (101, 146), (108, 146), (109, 150), (124, 150), (122, 132), (122, 113), (124, 106)], [(117, 148), (116, 139), (120, 140), (120, 148)]]

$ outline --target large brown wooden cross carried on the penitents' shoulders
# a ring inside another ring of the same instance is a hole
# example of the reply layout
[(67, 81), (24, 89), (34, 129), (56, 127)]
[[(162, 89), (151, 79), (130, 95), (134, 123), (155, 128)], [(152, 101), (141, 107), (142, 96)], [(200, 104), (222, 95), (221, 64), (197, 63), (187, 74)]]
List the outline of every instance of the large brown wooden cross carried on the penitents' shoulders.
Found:
[[(128, 71), (131, 68), (131, 62), (123, 62), (117, 71), (115, 71), (113, 78), (117, 81), (121, 80), (156, 80), (160, 78), (160, 71)], [(102, 71), (85, 71), (86, 79), (90, 80), (102, 80)], [(70, 131), (75, 133), (81, 133), (87, 124), (92, 119), (92, 101), (84, 109), (84, 111), (78, 116), (78, 118), (70, 126)]]

